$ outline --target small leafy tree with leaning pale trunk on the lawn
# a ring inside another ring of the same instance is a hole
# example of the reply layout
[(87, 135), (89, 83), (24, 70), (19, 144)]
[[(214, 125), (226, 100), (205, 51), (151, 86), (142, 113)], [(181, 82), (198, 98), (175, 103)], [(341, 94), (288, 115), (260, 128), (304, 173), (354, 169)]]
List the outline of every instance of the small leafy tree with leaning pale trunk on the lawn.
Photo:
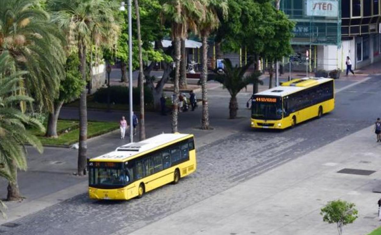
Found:
[(66, 59), (66, 76), (61, 80), (59, 85), (59, 96), (54, 100), (53, 112), (49, 112), (48, 126), (46, 129), (46, 137), (58, 137), (57, 135), (57, 121), (61, 107), (65, 102), (70, 102), (80, 96), (83, 86), (86, 83), (82, 80), (81, 73), (78, 71), (79, 59), (77, 53), (72, 53)]

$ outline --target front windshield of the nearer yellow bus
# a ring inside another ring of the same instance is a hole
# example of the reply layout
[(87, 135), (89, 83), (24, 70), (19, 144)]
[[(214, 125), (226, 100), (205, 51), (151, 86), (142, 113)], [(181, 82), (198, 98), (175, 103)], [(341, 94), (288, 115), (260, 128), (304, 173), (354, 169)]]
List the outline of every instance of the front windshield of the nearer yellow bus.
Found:
[(89, 184), (99, 188), (118, 188), (128, 184), (128, 174), (120, 163), (93, 162), (90, 164)]

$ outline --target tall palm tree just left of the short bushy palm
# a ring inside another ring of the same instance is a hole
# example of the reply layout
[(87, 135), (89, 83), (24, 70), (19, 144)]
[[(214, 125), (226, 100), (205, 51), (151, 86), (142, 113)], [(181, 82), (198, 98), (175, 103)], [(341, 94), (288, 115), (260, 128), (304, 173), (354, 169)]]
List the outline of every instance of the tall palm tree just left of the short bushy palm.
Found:
[(227, 17), (227, 0), (207, 0), (205, 5), (205, 18), (199, 21), (199, 31), (202, 38), (202, 118), (201, 129), (209, 129), (209, 108), (208, 108), (208, 37), (210, 33), (219, 25), (217, 11), (220, 11), (224, 18)]

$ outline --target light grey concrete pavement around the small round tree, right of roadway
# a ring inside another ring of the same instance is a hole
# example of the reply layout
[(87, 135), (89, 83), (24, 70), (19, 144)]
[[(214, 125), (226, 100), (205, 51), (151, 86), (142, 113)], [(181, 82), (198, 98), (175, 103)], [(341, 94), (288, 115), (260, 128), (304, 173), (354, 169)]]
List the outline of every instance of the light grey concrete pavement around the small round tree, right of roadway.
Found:
[[(336, 225), (322, 221), (320, 208), (342, 199), (359, 210), (359, 218), (344, 226), (344, 233), (366, 235), (381, 225), (380, 194), (372, 193), (381, 184), (380, 151), (372, 127), (365, 128), (131, 234), (332, 235)], [(337, 173), (343, 168), (376, 172)]]

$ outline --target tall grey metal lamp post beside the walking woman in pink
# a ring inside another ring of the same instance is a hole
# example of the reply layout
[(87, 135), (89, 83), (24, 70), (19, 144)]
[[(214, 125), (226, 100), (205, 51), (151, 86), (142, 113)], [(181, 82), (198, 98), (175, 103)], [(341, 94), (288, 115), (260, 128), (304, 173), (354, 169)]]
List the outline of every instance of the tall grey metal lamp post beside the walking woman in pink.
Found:
[[(120, 5), (119, 10), (120, 11), (125, 11), (126, 8), (125, 2), (122, 2)], [(128, 0), (127, 2), (127, 7), (128, 7), (128, 88), (130, 91), (130, 96), (129, 96), (129, 106), (130, 106), (130, 142), (133, 141), (134, 133), (133, 133), (133, 123), (132, 123), (132, 18), (131, 18), (131, 0)]]

